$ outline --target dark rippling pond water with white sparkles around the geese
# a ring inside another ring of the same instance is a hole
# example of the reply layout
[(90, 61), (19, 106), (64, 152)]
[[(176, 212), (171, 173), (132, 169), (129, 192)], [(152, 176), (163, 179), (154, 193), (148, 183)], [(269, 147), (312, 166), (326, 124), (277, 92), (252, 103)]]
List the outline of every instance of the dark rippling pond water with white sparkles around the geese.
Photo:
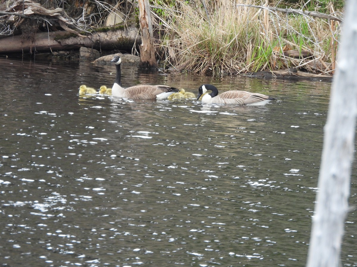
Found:
[[(277, 98), (79, 96), (114, 66), (0, 59), (1, 266), (304, 266), (331, 84), (122, 66), (124, 86)], [(350, 205), (357, 203), (356, 165)], [(354, 209), (343, 266), (357, 266)]]

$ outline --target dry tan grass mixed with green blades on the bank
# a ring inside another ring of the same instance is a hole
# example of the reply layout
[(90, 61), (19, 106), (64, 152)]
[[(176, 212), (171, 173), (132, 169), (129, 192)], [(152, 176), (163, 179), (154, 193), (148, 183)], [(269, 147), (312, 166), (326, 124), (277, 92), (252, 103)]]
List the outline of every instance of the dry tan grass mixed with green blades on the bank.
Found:
[[(180, 71), (218, 76), (303, 64), (312, 72), (330, 71), (332, 31), (326, 19), (242, 6), (255, 5), (253, 0), (206, 1), (208, 16), (200, 0), (164, 2), (154, 4), (165, 14), (154, 17), (159, 49), (165, 64)], [(339, 35), (336, 27), (333, 36)], [(313, 57), (288, 57), (287, 48)]]

